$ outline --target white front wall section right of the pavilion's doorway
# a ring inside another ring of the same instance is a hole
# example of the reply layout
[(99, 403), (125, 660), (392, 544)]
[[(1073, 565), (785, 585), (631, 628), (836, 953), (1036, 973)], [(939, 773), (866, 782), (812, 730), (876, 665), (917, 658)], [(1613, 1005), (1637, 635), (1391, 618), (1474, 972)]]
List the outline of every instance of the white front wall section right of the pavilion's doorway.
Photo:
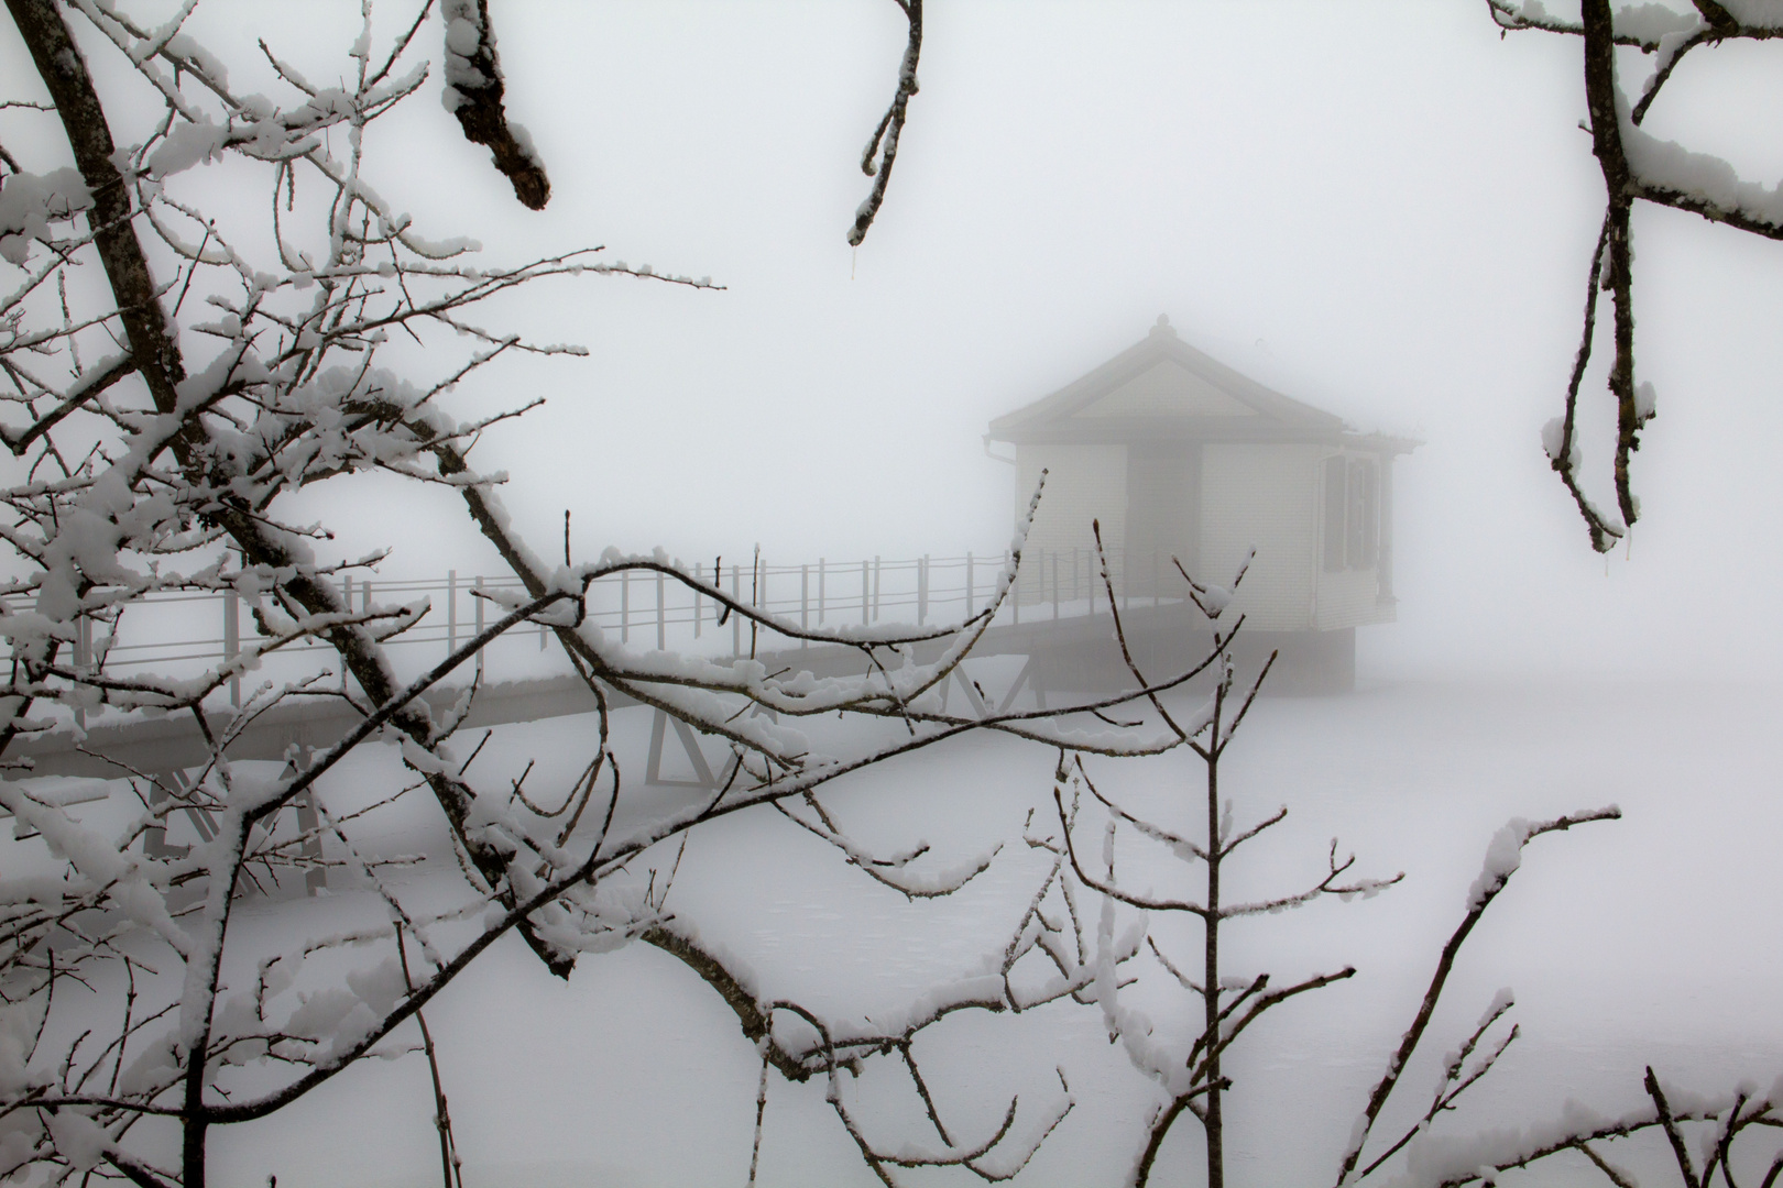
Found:
[(1234, 602), (1252, 631), (1314, 625), (1323, 454), (1318, 445), (1214, 443), (1202, 454), (1202, 574), (1227, 584), (1257, 549)]

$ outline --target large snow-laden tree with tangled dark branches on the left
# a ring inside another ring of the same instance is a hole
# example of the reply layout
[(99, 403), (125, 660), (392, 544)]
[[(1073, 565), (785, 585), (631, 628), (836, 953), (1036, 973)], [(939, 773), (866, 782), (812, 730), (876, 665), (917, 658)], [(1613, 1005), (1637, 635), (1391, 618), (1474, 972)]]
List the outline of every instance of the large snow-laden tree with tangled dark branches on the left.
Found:
[[(410, 5), (394, 34), (367, 4), (333, 82), (260, 43), (280, 100), (241, 89), (225, 55), (185, 32), (193, 4), (160, 25), (94, 0), (7, 7), (48, 94), (46, 105), (20, 102), (41, 118), (39, 139), (59, 139), (75, 164), (34, 173), (11, 148), (0, 160), (0, 255), (14, 278), (0, 297), (0, 440), (12, 458), (4, 499), (14, 513), (0, 529), (11, 552), (0, 631), (12, 648), (0, 759), (14, 764), (0, 803), (21, 837), (43, 846), (29, 869), (0, 875), (0, 1174), (39, 1167), (52, 1177), (198, 1188), (210, 1129), (267, 1117), (357, 1062), (412, 1051), (414, 1019), (449, 1181), (456, 1154), (423, 1008), (510, 932), (558, 976), (631, 940), (676, 956), (735, 1012), (763, 1069), (838, 1086), (838, 1119), (883, 1179), (895, 1167), (957, 1165), (986, 1179), (1020, 1170), (1070, 1110), (1063, 1085), (1043, 1095), (1039, 1122), (1029, 1126), (1031, 1108), (1011, 1101), (1000, 1127), (966, 1136), (934, 1106), (918, 1053), (924, 1031), (957, 1012), (1023, 1010), (1088, 985), (1077, 969), (1032, 994), (1016, 989), (1022, 958), (1036, 946), (1059, 951), (1039, 940), (1038, 908), (1016, 926), (997, 976), (941, 987), (895, 1026), (863, 1028), (768, 996), (745, 960), (665, 907), (669, 889), (690, 830), (779, 807), (900, 894), (950, 894), (995, 850), (941, 871), (929, 871), (922, 851), (881, 858), (820, 789), (981, 730), (1068, 752), (1168, 750), (1180, 736), (1111, 728), (1102, 711), (1155, 698), (1193, 671), (1075, 711), (949, 712), (940, 691), (1009, 597), (1025, 524), (984, 604), (940, 629), (808, 629), (661, 552), (610, 549), (585, 565), (565, 552), (556, 565), (533, 549), (499, 499), (505, 476), (472, 454), (485, 431), (537, 401), (449, 406), (505, 356), (583, 351), (490, 330), (480, 310), (521, 287), (574, 278), (713, 285), (613, 264), (601, 248), (485, 265), (472, 240), (426, 239), (378, 191), (376, 121), (424, 91), (421, 34), (437, 21), (448, 109), (492, 150), (522, 203), (546, 203), (544, 167), (505, 114), (487, 4)], [(875, 137), (874, 210), (915, 93), (915, 0), (906, 14), (909, 50)], [(863, 219), (861, 233), (872, 212)], [(328, 525), (305, 518), (308, 492), (366, 472), (455, 502), (521, 586), (480, 591), (494, 622), (415, 679), (398, 675), (389, 648), (430, 604), (355, 606), (339, 582), (382, 554), (337, 556)], [(815, 679), (768, 671), (754, 654), (713, 661), (626, 648), (587, 614), (587, 591), (633, 572), (692, 590), (752, 629), (852, 648), (858, 671)], [(253, 636), (196, 671), (125, 670), (119, 639), (152, 600), (175, 595), (239, 600)], [(423, 698), (522, 625), (555, 636), (597, 705), (581, 775), (555, 794), (528, 793), (524, 773), (506, 785), (471, 775), (478, 752), (464, 755), (455, 739), (481, 693), (476, 679), (444, 716)], [(940, 659), (916, 663), (913, 648), (936, 643)], [(301, 675), (259, 677), (285, 661)], [(241, 704), (225, 705), (242, 682)], [(617, 698), (722, 739), (733, 752), (727, 780), (692, 803), (642, 803), (612, 741)], [(232, 759), (257, 721), (316, 702), (355, 714), (344, 737), (292, 748), (276, 773)], [(838, 712), (899, 734), (827, 753), (795, 728)], [(7, 750), (46, 734), (78, 741), (94, 716), (189, 720), (205, 761), (177, 773), (116, 762), (100, 807), (71, 814)], [(323, 794), (349, 757), (373, 748), (399, 757), (383, 764), (385, 785), (355, 803)], [(373, 841), (376, 821), (419, 798), (456, 858), (449, 894), (417, 894), (394, 876), (428, 855)], [(196, 841), (171, 842), (187, 823)], [(282, 903), (292, 889), (314, 891), (325, 871), (342, 873), (360, 901), (369, 896), (374, 917), (342, 907), (339, 926), (273, 949), (232, 928), (244, 899)], [(355, 956), (366, 949), (369, 962)], [(75, 987), (100, 1006), (77, 1010)], [(112, 1021), (80, 1026), (94, 1010)], [(795, 1019), (817, 1038), (788, 1029)], [(845, 1103), (838, 1078), (877, 1056), (909, 1070), (940, 1151), (868, 1138), (872, 1119)], [(171, 1158), (166, 1135), (153, 1135), (168, 1124), (178, 1133)]]

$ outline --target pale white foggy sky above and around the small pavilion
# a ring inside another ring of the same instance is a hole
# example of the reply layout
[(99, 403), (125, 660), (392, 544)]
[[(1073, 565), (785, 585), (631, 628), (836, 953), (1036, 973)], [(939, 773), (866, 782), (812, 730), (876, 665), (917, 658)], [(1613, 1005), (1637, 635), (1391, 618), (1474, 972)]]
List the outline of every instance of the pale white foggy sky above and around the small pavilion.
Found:
[[(216, 5), (203, 36), (235, 71), (253, 32), (325, 75), (357, 7), (335, 36), (323, 5)], [(563, 508), (581, 556), (1000, 549), (1015, 472), (984, 458), (986, 422), (1166, 312), (1239, 370), (1425, 438), (1396, 476), (1401, 623), (1366, 632), (1364, 657), (1719, 679), (1783, 654), (1767, 333), (1783, 248), (1640, 208), (1660, 417), (1630, 559), (1589, 552), (1546, 470), (1601, 214), (1576, 41), (1500, 39), (1464, 0), (933, 0), (922, 93), (856, 256), (856, 162), (902, 52), (890, 0), (492, 7), (551, 207), (514, 201), (439, 107), (437, 73), (374, 126), (380, 191), (492, 260), (604, 242), (729, 287), (583, 278), (485, 319), (592, 351), (464, 392), (465, 410), (551, 397), (480, 447), (514, 470), (506, 499), (542, 552)], [(1647, 126), (1776, 183), (1763, 52), (1687, 61)], [(1587, 397), (1601, 390), (1599, 367)], [(1605, 481), (1606, 454), (1587, 477)], [(330, 517), (348, 541), (394, 540), (385, 572), (490, 563), (444, 504), (396, 531), (366, 495)]]

